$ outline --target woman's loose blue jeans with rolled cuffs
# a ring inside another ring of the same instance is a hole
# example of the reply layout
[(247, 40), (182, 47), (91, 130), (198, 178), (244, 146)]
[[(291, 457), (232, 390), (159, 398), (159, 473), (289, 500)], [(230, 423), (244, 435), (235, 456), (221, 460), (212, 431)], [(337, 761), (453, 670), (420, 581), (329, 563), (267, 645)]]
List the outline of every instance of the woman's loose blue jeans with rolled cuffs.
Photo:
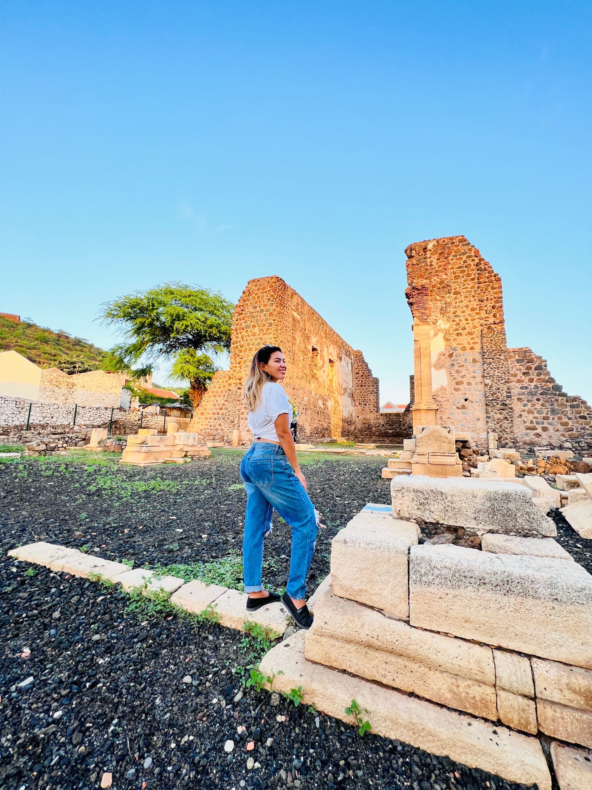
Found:
[(306, 575), (317, 540), (313, 503), (294, 475), (286, 453), (272, 442), (253, 442), (241, 463), (247, 506), (242, 563), (245, 592), (259, 592), (263, 564), (263, 540), (272, 529), (273, 509), (292, 528), (290, 578), (286, 592), (296, 600), (306, 596)]

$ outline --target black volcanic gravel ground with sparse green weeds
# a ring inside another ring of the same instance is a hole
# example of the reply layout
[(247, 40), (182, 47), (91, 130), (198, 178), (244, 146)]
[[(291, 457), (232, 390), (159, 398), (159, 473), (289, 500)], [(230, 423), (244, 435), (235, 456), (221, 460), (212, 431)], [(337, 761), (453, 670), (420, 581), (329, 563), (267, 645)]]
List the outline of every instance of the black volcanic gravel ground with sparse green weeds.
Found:
[[(0, 465), (0, 786), (90, 790), (111, 772), (119, 790), (526, 787), (405, 743), (372, 734), (360, 739), (339, 720), (264, 691), (244, 690), (234, 702), (242, 686), (233, 668), (258, 657), (244, 634), (168, 613), (142, 619), (126, 613), (128, 599), (117, 588), (6, 557), (10, 547), (32, 540), (85, 545), (137, 565), (209, 561), (238, 551), (245, 501), (236, 487), (239, 458), (221, 452), (191, 465), (148, 469), (54, 459)], [(366, 502), (388, 502), (383, 464), (339, 458), (306, 465), (311, 497), (328, 524), (311, 591), (328, 572), (339, 526)], [(568, 525), (558, 526), (560, 542), (590, 567), (584, 541)], [(274, 553), (289, 554), (281, 522), (266, 544), (266, 555)], [(268, 574), (272, 586), (285, 584), (286, 566), (280, 562)], [(182, 683), (186, 675), (193, 683)], [(29, 677), (28, 686), (18, 687)], [(248, 733), (242, 739), (240, 725)], [(230, 756), (223, 751), (227, 739), (236, 744)], [(249, 741), (253, 751), (245, 750)], [(260, 768), (246, 769), (249, 756)]]

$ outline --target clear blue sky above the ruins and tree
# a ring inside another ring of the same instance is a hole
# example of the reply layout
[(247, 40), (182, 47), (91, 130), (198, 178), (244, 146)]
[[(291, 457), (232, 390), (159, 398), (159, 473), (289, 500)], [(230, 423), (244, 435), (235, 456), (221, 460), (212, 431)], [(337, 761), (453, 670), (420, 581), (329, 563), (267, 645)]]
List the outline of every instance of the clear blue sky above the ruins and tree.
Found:
[(592, 401), (591, 36), (590, 0), (5, 0), (0, 310), (107, 346), (107, 299), (278, 274), (405, 401), (404, 247), (464, 234)]

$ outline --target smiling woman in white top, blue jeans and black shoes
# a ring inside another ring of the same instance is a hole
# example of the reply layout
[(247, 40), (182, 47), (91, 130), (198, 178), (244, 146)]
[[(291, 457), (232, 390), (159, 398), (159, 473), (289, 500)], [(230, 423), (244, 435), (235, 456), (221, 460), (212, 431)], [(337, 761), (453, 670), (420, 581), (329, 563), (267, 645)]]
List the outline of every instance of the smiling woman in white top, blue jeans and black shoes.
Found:
[[(317, 519), (306, 493), (290, 433), (292, 407), (278, 382), (286, 378), (286, 360), (279, 346), (264, 345), (253, 357), (245, 382), (249, 428), (253, 444), (241, 464), (247, 504), (242, 559), (247, 611), (281, 600), (298, 626), (310, 628), (313, 615), (306, 606), (306, 575), (317, 540)], [(290, 578), (283, 596), (261, 584), (264, 536), (272, 529), (273, 509), (292, 528)]]

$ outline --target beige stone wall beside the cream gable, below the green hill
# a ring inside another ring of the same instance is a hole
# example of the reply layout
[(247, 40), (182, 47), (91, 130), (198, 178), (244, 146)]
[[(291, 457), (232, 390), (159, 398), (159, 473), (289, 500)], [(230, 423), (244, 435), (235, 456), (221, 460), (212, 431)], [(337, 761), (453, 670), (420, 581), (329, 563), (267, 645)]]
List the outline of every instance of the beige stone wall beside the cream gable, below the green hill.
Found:
[(57, 367), (41, 371), (39, 401), (119, 408), (126, 376), (105, 371), (68, 375)]

